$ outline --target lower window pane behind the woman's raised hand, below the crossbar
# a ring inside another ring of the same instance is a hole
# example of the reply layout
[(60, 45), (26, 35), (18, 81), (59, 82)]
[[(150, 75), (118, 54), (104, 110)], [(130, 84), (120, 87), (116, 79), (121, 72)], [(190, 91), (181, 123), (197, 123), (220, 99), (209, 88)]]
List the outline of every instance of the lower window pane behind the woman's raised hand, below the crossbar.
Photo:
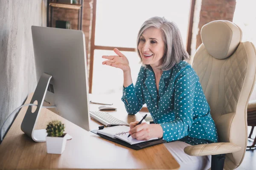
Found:
[[(137, 52), (121, 51), (128, 60), (131, 67), (131, 77), (133, 83), (136, 83), (138, 73), (140, 71), (140, 58)], [(118, 93), (122, 96), (123, 72), (119, 68), (114, 68), (109, 65), (102, 65), (105, 59), (103, 55), (116, 55), (114, 51), (109, 50), (94, 50), (93, 61), (93, 94), (113, 94)]]

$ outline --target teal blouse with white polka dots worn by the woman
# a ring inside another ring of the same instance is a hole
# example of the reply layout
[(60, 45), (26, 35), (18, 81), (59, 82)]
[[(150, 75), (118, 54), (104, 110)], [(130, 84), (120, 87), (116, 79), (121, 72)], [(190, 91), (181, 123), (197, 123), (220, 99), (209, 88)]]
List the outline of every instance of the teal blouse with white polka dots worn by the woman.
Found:
[(128, 114), (136, 114), (146, 103), (154, 123), (163, 128), (163, 139), (167, 142), (180, 140), (192, 145), (218, 142), (198, 75), (185, 61), (163, 71), (158, 93), (154, 71), (142, 66), (136, 85), (123, 88), (122, 101)]

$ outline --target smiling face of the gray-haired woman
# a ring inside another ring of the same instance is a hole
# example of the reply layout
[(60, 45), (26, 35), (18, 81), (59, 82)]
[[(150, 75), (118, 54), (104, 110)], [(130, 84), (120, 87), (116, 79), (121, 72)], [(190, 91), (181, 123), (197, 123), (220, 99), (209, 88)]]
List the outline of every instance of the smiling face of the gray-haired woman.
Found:
[(149, 27), (140, 36), (138, 45), (142, 62), (156, 68), (163, 63), (164, 42), (160, 29)]

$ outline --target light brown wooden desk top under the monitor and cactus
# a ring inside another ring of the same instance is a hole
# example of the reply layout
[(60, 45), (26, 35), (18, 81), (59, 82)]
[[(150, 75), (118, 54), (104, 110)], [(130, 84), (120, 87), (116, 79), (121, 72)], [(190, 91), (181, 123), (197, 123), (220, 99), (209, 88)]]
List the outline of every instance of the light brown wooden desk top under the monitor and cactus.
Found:
[[(96, 96), (90, 96), (93, 99)], [(29, 95), (26, 103), (32, 98)], [(112, 98), (112, 96), (111, 96)], [(110, 100), (108, 100), (111, 102)], [(140, 120), (139, 114), (127, 115), (120, 98), (115, 101), (117, 111), (114, 116), (133, 122)], [(90, 110), (98, 110), (99, 105), (90, 104)], [(36, 129), (43, 129), (50, 120), (61, 120), (66, 126), (66, 132), (73, 136), (68, 140), (66, 149), (61, 155), (47, 154), (45, 142), (34, 142), (21, 130), (20, 125), (28, 107), (23, 107), (15, 119), (9, 132), (0, 144), (0, 167), (3, 169), (171, 169), (180, 166), (172, 157), (164, 144), (148, 147), (142, 150), (132, 150), (122, 145), (102, 139), (77, 125), (63, 119), (57, 114), (43, 108), (38, 118)], [(90, 129), (98, 128), (99, 124), (90, 121)]]

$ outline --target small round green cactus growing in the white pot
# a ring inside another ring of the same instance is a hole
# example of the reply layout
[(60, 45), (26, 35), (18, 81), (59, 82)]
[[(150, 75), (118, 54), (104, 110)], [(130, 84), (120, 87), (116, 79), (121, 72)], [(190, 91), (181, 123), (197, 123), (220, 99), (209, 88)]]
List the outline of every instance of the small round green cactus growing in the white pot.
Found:
[(65, 126), (64, 126), (64, 124), (61, 123), (61, 121), (55, 120), (55, 121), (49, 122), (49, 124), (47, 125), (47, 128), (46, 128), (46, 131), (48, 133), (47, 136), (63, 137), (64, 129), (65, 129)]

